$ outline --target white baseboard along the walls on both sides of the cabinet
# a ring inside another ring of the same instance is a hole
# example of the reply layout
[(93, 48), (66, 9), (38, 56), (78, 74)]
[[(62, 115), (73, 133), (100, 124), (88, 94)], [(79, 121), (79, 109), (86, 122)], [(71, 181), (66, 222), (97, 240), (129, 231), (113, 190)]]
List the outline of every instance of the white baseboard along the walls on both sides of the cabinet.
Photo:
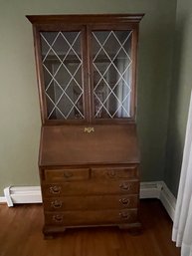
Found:
[[(16, 203), (42, 202), (40, 186), (9, 186), (4, 189), (4, 195), (4, 197), (0, 197), (0, 202), (6, 202), (9, 207)], [(159, 199), (173, 220), (176, 199), (164, 181), (141, 182), (140, 198)]]

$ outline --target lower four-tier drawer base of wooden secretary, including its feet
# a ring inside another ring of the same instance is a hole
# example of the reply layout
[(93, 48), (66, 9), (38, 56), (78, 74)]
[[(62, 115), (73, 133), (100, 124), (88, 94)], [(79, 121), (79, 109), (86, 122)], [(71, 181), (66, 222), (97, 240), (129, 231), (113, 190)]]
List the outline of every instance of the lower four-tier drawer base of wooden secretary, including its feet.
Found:
[(139, 182), (135, 164), (106, 166), (100, 171), (99, 167), (92, 165), (89, 169), (64, 166), (60, 169), (42, 168), (40, 171), (43, 177), (45, 235), (73, 226), (139, 226)]

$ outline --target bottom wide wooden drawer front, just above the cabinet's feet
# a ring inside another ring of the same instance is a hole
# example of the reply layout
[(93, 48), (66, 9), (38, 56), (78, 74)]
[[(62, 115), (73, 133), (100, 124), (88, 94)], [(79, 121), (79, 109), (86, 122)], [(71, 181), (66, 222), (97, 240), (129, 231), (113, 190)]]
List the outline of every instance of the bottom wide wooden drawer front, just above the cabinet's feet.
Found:
[(137, 220), (136, 209), (45, 212), (46, 225), (104, 225), (132, 223)]

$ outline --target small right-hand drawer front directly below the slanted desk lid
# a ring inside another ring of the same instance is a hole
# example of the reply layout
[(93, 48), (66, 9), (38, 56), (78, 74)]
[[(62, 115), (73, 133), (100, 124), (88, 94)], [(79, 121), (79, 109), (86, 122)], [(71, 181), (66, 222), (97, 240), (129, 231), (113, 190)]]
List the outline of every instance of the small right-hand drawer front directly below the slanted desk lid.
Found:
[(118, 178), (137, 178), (137, 165), (130, 165), (128, 167), (92, 168), (92, 177), (106, 178), (109, 180)]

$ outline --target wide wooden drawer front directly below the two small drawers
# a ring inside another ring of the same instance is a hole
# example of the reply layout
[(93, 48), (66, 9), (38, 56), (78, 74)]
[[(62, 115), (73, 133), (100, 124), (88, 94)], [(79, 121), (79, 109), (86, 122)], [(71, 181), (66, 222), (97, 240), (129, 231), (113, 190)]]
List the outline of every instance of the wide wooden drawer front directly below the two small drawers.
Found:
[(62, 196), (62, 195), (96, 195), (96, 194), (138, 194), (138, 180), (112, 180), (110, 182), (100, 181), (80, 181), (63, 182), (60, 184), (44, 184), (42, 187), (44, 197)]

